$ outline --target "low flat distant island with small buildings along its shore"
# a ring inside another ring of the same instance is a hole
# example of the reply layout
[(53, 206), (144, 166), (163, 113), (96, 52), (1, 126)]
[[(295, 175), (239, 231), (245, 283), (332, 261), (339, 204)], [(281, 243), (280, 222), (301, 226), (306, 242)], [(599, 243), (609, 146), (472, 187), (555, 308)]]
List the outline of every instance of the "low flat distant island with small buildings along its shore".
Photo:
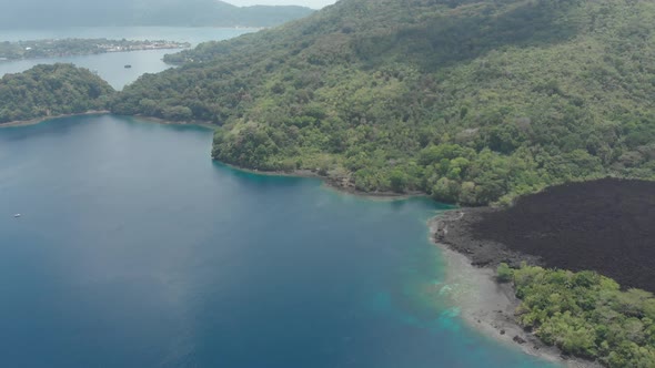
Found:
[(173, 50), (190, 48), (189, 42), (108, 39), (63, 39), (0, 42), (0, 61), (89, 55), (105, 52)]

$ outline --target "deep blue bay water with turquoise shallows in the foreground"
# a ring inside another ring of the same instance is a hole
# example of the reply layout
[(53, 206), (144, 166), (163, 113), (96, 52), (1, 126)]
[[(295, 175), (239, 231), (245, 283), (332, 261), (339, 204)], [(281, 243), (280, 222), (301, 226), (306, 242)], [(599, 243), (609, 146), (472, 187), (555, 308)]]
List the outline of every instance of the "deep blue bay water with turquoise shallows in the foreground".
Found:
[(211, 136), (111, 115), (0, 129), (1, 367), (547, 366), (440, 296), (443, 206), (234, 171)]

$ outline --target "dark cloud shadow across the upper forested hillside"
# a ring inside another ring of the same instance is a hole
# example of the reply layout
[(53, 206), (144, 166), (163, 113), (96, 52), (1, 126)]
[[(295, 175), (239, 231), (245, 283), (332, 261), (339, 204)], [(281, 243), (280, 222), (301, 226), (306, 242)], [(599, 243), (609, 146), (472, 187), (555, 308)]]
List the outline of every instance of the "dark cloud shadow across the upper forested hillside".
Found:
[(494, 3), (462, 7), (453, 10), (452, 17), (427, 13), (421, 23), (361, 38), (354, 45), (371, 68), (387, 60), (391, 52), (397, 61), (414, 61), (434, 71), (505, 47), (565, 42), (580, 30), (576, 22), (567, 19), (573, 7), (576, 4), (550, 1), (525, 2), (510, 10)]

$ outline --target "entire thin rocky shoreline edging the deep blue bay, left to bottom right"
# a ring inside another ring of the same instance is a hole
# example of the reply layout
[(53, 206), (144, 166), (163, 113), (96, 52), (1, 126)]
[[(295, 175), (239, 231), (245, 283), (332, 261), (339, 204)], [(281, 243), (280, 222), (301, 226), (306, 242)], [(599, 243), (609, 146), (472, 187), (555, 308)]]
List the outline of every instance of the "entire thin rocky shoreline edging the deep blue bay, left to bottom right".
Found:
[[(88, 111), (77, 114), (46, 116), (29, 121), (4, 123), (0, 124), (0, 127), (27, 126), (54, 119), (94, 114), (111, 114), (111, 112)], [(196, 125), (210, 130), (218, 127), (206, 122), (172, 122), (150, 116), (127, 116), (163, 125)], [(353, 185), (346, 185), (349, 182), (343, 178), (320, 175), (311, 170), (294, 170), (291, 172), (258, 171), (238, 167), (222, 162), (221, 164), (236, 171), (256, 175), (319, 178), (329, 190), (371, 200), (405, 200), (427, 196), (424, 193), (362, 192), (354, 188)], [(530, 264), (540, 264), (540, 262), (534, 257), (530, 258), (526, 255), (510, 252), (501, 244), (475, 241), (466, 234), (465, 224), (474, 221), (480, 214), (490, 211), (494, 209), (482, 207), (447, 211), (431, 218), (426, 224), (429, 226), (431, 242), (439, 246), (445, 259), (446, 284), (449, 285), (446, 292), (449, 293), (449, 298), (460, 308), (460, 317), (468, 327), (480, 334), (507, 346), (520, 348), (527, 355), (565, 367), (601, 368), (602, 366), (597, 362), (564, 356), (558, 348), (545, 345), (538, 337), (525, 331), (518, 325), (514, 317), (514, 311), (521, 300), (515, 297), (512, 285), (498, 284), (495, 280), (495, 267), (501, 262), (506, 262), (511, 265), (518, 265), (522, 260), (526, 260)], [(454, 223), (463, 225), (453, 226)]]

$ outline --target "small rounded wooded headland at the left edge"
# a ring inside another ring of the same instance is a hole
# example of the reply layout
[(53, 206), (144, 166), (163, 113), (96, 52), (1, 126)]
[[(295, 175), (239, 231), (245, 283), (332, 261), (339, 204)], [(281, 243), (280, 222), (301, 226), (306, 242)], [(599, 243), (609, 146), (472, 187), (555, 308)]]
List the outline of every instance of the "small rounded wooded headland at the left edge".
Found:
[(114, 90), (72, 64), (37, 65), (0, 80), (0, 124), (107, 109)]

